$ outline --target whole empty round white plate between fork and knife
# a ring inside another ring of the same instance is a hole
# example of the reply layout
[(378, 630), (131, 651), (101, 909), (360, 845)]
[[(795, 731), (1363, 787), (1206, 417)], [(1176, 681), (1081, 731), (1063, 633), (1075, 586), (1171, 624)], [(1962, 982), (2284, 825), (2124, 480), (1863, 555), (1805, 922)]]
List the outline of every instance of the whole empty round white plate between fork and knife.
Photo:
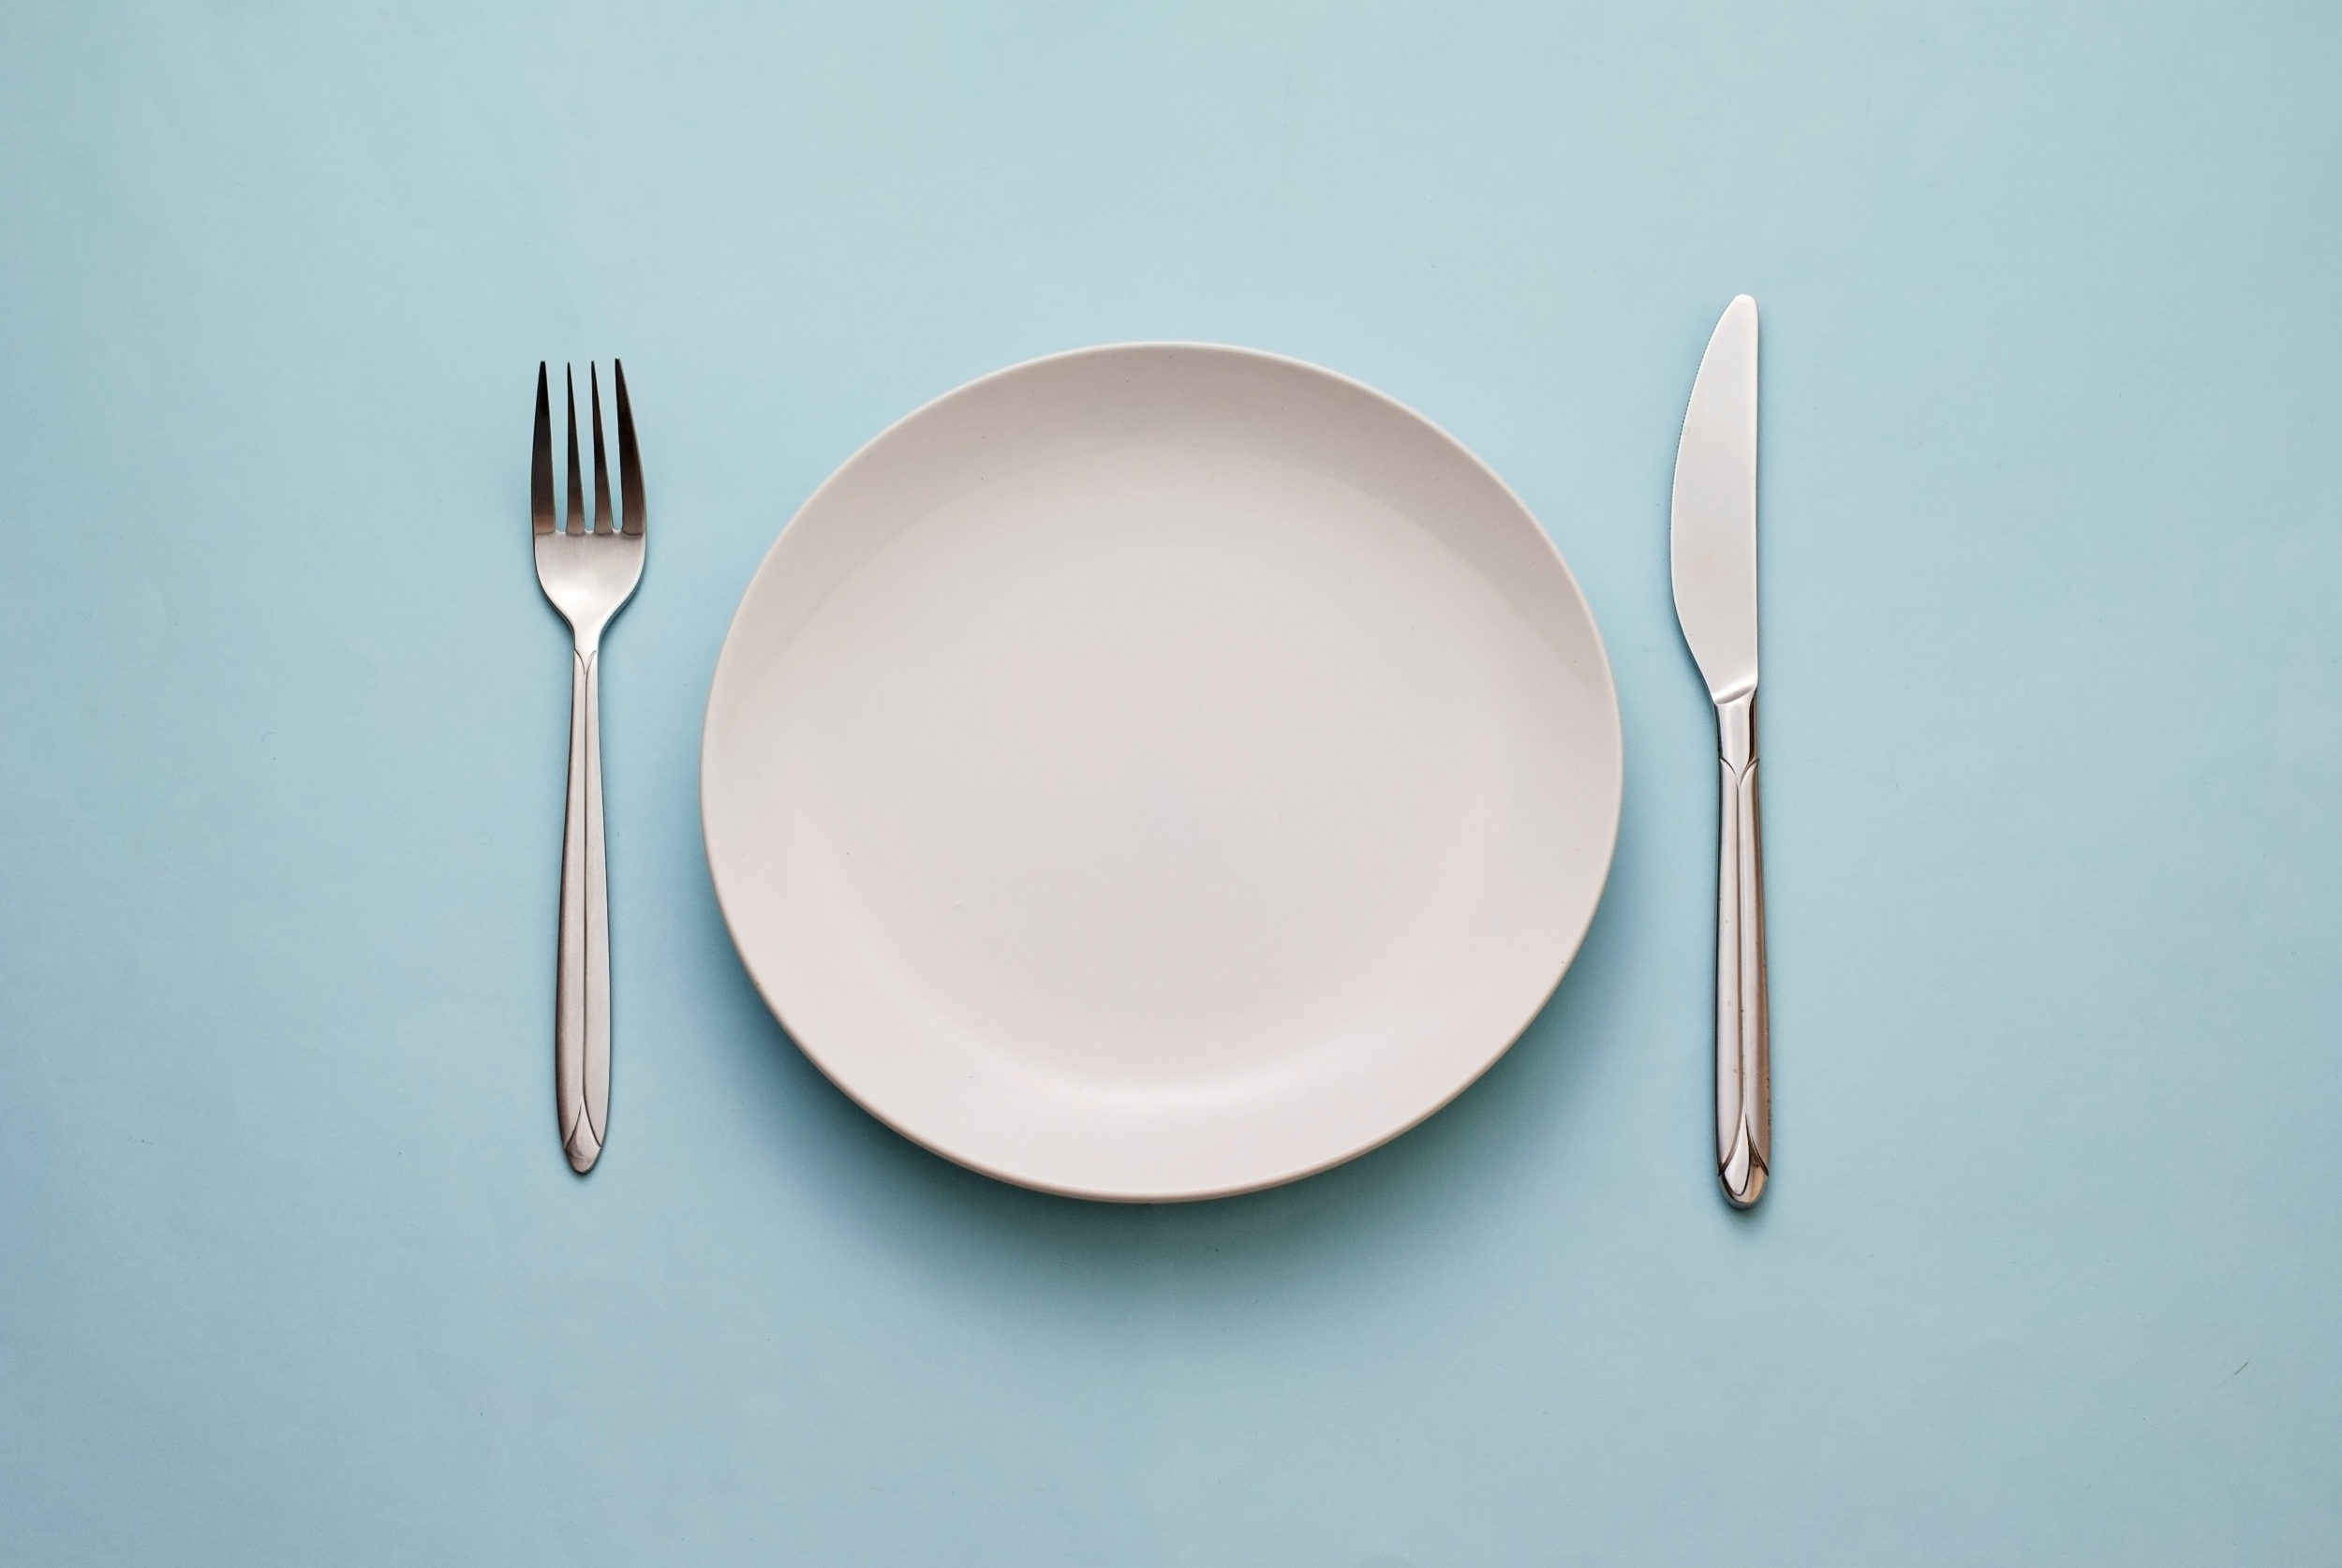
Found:
[(1396, 1137), (1576, 953), (1618, 697), (1527, 508), (1297, 360), (1082, 349), (937, 398), (766, 555), (707, 695), (747, 971), (920, 1144), (1208, 1198)]

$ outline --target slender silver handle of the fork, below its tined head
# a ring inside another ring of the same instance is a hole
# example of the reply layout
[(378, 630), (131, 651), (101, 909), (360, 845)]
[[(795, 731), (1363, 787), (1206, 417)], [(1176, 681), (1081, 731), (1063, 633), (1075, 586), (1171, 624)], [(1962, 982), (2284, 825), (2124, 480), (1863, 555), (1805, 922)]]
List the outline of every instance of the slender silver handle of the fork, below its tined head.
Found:
[(569, 667), (569, 810), (562, 819), (562, 943), (553, 1004), (553, 1095), (578, 1175), (609, 1135), (609, 875), (602, 861), (602, 653)]

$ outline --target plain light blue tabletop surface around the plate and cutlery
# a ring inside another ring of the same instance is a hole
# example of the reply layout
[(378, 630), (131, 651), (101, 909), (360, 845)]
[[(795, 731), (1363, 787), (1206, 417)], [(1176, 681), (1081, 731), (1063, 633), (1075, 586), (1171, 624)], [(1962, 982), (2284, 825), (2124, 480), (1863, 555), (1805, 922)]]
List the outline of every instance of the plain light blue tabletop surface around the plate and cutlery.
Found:
[[(0, 1561), (2342, 1549), (2330, 7), (0, 14)], [(1707, 1172), (1698, 351), (1766, 311), (1778, 1177)], [(1033, 353), (1258, 344), (1602, 618), (1609, 901), (1333, 1175), (1042, 1198), (745, 983), (773, 534)], [(550, 1100), (536, 360), (651, 475), (614, 1140)]]

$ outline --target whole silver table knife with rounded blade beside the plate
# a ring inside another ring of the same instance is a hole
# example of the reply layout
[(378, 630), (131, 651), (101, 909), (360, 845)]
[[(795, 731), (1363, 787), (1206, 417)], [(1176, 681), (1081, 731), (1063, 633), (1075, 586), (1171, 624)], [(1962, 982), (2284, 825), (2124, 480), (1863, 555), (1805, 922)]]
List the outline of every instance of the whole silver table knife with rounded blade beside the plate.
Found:
[(1756, 821), (1756, 302), (1724, 309), (1675, 449), (1675, 618), (1717, 704), (1717, 1177), (1733, 1208), (1773, 1165), (1773, 1051)]

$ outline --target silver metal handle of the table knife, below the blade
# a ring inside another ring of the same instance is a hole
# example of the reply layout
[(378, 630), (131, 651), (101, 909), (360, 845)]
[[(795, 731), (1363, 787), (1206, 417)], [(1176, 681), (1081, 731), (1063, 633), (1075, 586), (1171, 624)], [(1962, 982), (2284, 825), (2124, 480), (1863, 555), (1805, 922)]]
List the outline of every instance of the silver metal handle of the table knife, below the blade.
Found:
[(1717, 702), (1717, 751), (1724, 779), (1717, 857), (1717, 1177), (1733, 1208), (1749, 1208), (1764, 1196), (1773, 1163), (1754, 690)]

